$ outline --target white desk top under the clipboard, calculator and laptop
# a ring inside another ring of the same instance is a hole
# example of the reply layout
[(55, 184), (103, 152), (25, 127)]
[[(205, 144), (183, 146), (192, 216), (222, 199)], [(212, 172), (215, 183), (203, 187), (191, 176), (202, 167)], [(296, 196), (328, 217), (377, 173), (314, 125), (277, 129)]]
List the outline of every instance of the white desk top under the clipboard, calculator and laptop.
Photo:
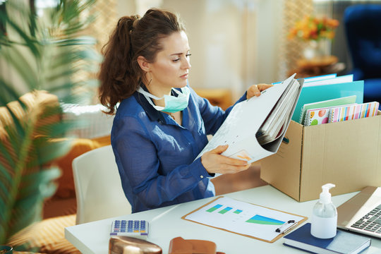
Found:
[[(332, 197), (334, 205), (341, 205), (356, 193), (349, 193)], [(229, 193), (224, 196), (263, 205), (285, 212), (301, 214), (310, 217), (316, 200), (297, 202), (272, 186), (262, 186), (246, 191)], [(210, 226), (188, 222), (181, 217), (188, 212), (204, 205), (213, 198), (186, 202), (180, 205), (162, 207), (155, 210), (128, 214), (121, 217), (89, 222), (65, 229), (65, 237), (82, 253), (108, 253), (109, 231), (113, 219), (145, 219), (150, 222), (150, 237), (147, 241), (162, 247), (163, 253), (168, 253), (169, 241), (181, 236), (184, 239), (202, 239), (214, 241), (217, 250), (226, 254), (236, 253), (305, 253), (301, 250), (286, 247), (280, 238), (274, 243), (266, 243), (246, 236), (229, 233)], [(308, 219), (309, 221), (309, 219)], [(253, 251), (251, 251), (253, 250)], [(372, 238), (372, 246), (365, 250), (366, 254), (381, 253), (381, 240)]]

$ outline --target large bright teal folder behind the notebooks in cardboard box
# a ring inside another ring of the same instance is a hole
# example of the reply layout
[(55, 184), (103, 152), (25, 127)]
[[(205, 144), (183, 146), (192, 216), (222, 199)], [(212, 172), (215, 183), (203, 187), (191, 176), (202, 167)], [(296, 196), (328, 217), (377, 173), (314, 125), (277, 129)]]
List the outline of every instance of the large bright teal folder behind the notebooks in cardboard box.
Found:
[(303, 87), (291, 120), (296, 122), (299, 121), (301, 110), (303, 105), (306, 103), (320, 102), (327, 99), (337, 99), (351, 95), (356, 95), (356, 103), (363, 103), (364, 80), (332, 85)]

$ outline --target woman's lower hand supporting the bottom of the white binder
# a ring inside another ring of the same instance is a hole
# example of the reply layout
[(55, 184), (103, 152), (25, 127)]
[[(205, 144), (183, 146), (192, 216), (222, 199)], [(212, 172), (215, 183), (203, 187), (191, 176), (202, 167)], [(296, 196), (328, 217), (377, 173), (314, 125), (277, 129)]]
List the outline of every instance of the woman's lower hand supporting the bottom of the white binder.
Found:
[(208, 173), (233, 174), (250, 167), (250, 164), (242, 159), (221, 155), (227, 147), (228, 145), (219, 145), (201, 156), (201, 163)]

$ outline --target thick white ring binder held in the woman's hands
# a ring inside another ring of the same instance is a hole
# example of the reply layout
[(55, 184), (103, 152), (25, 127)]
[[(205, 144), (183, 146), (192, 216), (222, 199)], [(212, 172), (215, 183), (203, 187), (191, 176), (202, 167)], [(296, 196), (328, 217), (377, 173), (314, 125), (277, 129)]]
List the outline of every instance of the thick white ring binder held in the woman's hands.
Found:
[(198, 157), (219, 145), (229, 145), (222, 155), (248, 163), (276, 153), (303, 86), (303, 79), (296, 80), (295, 75), (262, 91), (260, 97), (236, 104)]

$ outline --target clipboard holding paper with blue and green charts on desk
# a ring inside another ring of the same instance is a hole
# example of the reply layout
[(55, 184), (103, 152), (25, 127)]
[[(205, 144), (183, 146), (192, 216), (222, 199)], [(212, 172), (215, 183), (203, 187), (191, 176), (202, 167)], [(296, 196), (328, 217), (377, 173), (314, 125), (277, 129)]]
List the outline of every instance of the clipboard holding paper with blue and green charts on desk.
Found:
[(181, 219), (274, 243), (308, 218), (220, 196)]

